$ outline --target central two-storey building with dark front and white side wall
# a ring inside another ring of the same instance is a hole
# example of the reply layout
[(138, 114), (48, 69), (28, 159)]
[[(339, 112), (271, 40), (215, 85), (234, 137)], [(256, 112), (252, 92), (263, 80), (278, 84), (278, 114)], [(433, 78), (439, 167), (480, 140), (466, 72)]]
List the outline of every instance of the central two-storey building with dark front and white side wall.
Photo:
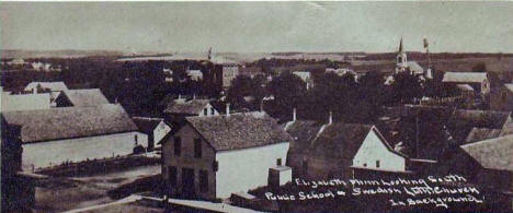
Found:
[(162, 178), (171, 196), (228, 198), (267, 185), (286, 162), (290, 137), (265, 113), (187, 117), (162, 145)]

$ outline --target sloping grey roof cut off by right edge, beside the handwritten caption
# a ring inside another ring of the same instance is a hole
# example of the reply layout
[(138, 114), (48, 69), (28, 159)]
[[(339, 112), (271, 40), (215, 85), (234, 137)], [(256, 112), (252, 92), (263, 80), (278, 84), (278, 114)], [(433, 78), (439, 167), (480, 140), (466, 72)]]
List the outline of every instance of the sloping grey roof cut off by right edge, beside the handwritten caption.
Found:
[(513, 171), (513, 135), (461, 145), (482, 167)]

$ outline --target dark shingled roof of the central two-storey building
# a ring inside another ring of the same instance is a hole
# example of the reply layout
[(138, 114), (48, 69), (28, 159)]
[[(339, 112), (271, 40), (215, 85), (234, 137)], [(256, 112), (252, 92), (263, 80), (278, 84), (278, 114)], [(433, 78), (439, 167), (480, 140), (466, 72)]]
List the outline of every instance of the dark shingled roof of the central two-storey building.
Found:
[(237, 150), (290, 142), (275, 119), (261, 111), (187, 117), (186, 121), (216, 150)]

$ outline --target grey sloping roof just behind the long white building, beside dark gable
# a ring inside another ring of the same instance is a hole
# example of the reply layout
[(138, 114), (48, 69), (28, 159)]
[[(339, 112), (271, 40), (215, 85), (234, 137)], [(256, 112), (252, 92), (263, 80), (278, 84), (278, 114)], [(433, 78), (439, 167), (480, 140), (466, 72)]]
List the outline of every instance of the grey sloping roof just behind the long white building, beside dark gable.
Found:
[(109, 104), (109, 100), (103, 95), (102, 91), (100, 91), (100, 88), (68, 90), (64, 91), (64, 94), (76, 107)]

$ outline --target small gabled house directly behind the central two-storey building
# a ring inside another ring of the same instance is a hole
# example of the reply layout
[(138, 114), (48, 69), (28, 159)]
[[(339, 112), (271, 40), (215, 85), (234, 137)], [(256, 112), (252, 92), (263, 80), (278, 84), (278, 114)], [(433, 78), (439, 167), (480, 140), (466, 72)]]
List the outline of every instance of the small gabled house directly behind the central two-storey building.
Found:
[(178, 98), (169, 103), (164, 109), (166, 119), (180, 126), (190, 116), (217, 116), (217, 111), (209, 99), (182, 99)]

